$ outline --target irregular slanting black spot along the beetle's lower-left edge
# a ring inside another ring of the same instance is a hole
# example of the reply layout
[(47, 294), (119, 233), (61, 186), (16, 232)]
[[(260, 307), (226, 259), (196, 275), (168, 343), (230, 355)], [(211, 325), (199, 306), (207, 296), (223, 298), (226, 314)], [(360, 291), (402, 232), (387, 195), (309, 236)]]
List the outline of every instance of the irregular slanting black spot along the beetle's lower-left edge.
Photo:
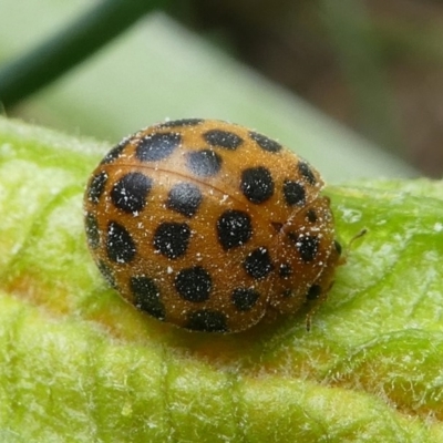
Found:
[(165, 306), (159, 298), (159, 290), (152, 278), (131, 277), (130, 289), (134, 296), (134, 305), (142, 311), (158, 320), (166, 317)]

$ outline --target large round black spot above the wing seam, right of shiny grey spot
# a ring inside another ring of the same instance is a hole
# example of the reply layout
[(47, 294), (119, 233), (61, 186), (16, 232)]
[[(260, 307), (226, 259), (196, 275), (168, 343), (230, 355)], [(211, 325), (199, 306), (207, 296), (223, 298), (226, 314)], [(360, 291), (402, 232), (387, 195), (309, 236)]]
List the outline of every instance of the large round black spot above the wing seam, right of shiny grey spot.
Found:
[(253, 203), (264, 203), (274, 194), (272, 176), (264, 166), (250, 167), (241, 173), (240, 189)]

